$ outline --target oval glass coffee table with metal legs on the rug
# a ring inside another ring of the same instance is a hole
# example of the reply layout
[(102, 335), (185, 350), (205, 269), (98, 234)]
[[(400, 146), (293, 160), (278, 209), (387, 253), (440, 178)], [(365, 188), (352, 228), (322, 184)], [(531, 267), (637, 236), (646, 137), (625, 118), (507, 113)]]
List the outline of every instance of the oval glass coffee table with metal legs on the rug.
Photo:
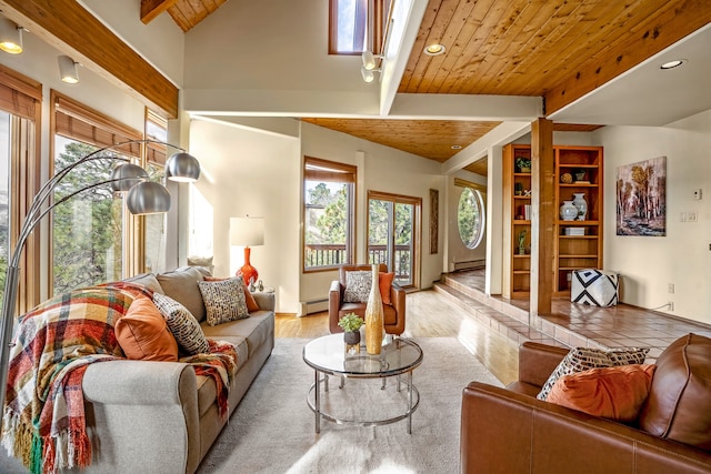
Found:
[[(412, 413), (420, 404), (412, 371), (422, 363), (422, 349), (413, 341), (397, 337), (384, 344), (380, 354), (370, 355), (364, 345), (360, 352), (348, 352), (343, 334), (331, 334), (309, 342), (303, 347), (303, 361), (314, 371), (307, 403), (316, 414), (317, 433), (321, 432), (321, 418), (357, 426), (384, 425), (407, 418), (408, 433), (412, 433)], [(330, 375), (341, 380), (338, 393), (329, 393)], [(395, 377), (397, 383), (391, 384), (394, 386), (387, 384), (390, 377)], [(347, 379), (380, 379), (382, 383), (361, 385), (361, 381), (353, 381), (347, 386)], [(373, 406), (385, 409), (385, 413), (372, 413), (369, 409)]]

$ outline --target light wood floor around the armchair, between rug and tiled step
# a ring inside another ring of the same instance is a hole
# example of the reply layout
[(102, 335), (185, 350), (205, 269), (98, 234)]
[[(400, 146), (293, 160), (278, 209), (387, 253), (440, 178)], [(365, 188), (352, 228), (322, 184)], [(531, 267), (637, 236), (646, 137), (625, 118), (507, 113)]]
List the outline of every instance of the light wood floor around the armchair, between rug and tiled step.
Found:
[[(328, 313), (302, 317), (277, 314), (277, 337), (313, 339), (329, 334)], [(518, 346), (503, 335), (474, 321), (441, 294), (419, 291), (408, 294), (403, 337), (457, 337), (502, 383), (518, 379)]]

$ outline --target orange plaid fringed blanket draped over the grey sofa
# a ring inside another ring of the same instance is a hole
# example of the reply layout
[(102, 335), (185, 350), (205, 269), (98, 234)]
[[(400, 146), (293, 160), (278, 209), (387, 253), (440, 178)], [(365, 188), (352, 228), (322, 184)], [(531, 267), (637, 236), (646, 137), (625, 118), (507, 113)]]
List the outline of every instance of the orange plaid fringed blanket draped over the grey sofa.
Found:
[[(113, 325), (138, 295), (150, 290), (130, 283), (91, 286), (56, 296), (21, 316), (10, 352), (2, 445), (36, 474), (91, 463), (82, 379), (89, 364), (124, 357)], [(220, 413), (236, 370), (234, 346), (210, 343), (217, 354), (184, 362), (212, 376)]]

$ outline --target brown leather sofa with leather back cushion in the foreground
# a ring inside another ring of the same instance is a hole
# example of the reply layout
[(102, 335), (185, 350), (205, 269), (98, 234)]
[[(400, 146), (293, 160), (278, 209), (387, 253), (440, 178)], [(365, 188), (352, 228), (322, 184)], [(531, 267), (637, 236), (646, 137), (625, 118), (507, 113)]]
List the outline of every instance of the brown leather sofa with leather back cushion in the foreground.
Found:
[(711, 340), (689, 334), (664, 350), (634, 426), (535, 399), (568, 352), (525, 342), (519, 381), (464, 389), (462, 473), (711, 472)]

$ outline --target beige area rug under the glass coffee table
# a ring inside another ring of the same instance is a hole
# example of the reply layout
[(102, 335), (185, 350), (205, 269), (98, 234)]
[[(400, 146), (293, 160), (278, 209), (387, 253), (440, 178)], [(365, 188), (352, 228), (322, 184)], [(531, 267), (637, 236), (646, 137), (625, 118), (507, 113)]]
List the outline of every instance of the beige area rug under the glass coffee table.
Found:
[[(198, 472), (212, 473), (458, 473), (462, 390), (471, 381), (501, 383), (454, 337), (418, 337), (424, 360), (413, 372), (420, 405), (407, 421), (350, 426), (321, 421), (307, 405), (313, 370), (302, 360), (308, 340), (278, 339), (267, 364), (237, 407)], [(369, 410), (388, 409), (380, 385), (347, 380), (330, 391), (346, 403), (360, 399)], [(379, 382), (378, 382), (379, 383)], [(390, 382), (389, 382), (390, 384)], [(394, 387), (394, 382), (389, 389)], [(395, 391), (387, 391), (392, 395)], [(402, 392), (404, 393), (404, 391)], [(377, 400), (377, 401), (375, 401)], [(352, 403), (352, 402), (351, 402)]]

